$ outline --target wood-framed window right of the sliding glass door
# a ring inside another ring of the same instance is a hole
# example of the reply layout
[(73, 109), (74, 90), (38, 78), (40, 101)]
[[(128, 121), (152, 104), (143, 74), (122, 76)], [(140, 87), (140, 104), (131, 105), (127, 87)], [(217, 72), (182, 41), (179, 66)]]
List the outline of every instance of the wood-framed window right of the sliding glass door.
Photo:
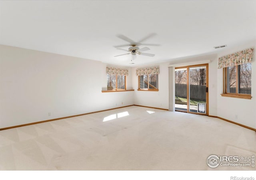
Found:
[(250, 99), (251, 72), (251, 63), (224, 68), (224, 94), (222, 96)]

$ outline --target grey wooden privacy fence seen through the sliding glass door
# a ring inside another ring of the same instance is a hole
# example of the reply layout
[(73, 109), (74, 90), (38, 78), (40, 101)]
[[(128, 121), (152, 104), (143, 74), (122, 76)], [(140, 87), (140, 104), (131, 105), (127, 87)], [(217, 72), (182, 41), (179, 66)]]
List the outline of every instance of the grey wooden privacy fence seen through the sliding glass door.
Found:
[[(206, 86), (190, 85), (190, 99), (206, 100)], [(175, 96), (187, 98), (187, 84), (175, 84)]]

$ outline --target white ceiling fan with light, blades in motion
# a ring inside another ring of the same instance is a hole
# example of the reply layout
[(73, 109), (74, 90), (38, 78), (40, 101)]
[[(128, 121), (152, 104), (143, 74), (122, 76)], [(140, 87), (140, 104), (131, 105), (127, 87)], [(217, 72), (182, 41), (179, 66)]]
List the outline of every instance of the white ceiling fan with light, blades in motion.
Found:
[[(144, 51), (150, 50), (150, 48), (144, 47), (144, 48), (140, 49), (139, 47), (136, 46), (136, 44), (132, 44), (131, 47), (128, 48), (128, 50), (125, 50), (125, 49), (122, 49), (122, 48), (117, 48), (117, 49), (129, 52), (129, 53), (126, 53), (126, 54), (132, 54), (132, 59), (136, 58), (136, 54), (144, 55), (144, 56), (150, 56), (150, 57), (155, 56), (154, 54), (144, 53)], [(126, 54), (120, 54), (120, 55), (117, 55), (117, 56), (124, 56)], [(114, 56), (114, 57), (117, 57), (117, 56)]]

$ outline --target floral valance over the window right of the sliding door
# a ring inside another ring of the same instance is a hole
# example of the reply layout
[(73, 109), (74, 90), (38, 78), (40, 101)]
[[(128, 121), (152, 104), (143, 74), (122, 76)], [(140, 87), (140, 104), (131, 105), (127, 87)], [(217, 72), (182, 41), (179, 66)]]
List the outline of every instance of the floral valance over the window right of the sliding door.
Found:
[(218, 59), (218, 69), (252, 62), (253, 48), (235, 52)]

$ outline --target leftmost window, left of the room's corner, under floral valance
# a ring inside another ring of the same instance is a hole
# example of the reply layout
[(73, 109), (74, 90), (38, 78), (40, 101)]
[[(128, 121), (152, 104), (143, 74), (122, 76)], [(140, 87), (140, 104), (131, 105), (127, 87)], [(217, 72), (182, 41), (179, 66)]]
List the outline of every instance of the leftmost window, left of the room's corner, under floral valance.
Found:
[(108, 90), (126, 90), (126, 76), (124, 75), (107, 75)]

